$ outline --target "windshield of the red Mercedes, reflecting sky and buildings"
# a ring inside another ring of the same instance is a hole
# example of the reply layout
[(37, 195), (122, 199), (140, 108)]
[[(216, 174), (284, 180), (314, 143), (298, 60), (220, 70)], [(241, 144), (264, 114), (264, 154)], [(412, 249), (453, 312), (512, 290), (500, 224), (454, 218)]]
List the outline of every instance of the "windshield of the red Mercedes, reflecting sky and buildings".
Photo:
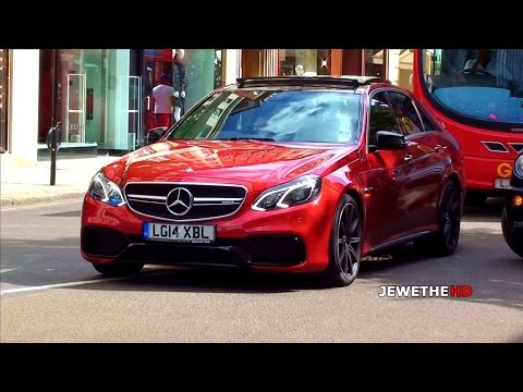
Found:
[(238, 89), (214, 94), (168, 139), (262, 139), (354, 144), (361, 96), (325, 89)]

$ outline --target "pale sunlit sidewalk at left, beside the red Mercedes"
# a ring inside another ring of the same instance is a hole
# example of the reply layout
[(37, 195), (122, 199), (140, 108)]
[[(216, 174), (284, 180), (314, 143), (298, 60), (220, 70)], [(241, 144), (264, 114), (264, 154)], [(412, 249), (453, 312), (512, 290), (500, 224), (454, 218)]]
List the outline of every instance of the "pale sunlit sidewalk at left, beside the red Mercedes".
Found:
[(50, 184), (50, 161), (31, 168), (0, 168), (1, 206), (28, 205), (84, 197), (90, 179), (119, 157), (100, 156), (57, 160), (56, 185)]

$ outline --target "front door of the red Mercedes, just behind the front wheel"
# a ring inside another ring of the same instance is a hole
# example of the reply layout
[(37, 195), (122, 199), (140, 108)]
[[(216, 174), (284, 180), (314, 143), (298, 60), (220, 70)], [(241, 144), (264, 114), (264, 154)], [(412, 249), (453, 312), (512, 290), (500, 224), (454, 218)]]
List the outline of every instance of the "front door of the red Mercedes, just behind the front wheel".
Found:
[(376, 149), (376, 134), (388, 131), (401, 134), (400, 124), (390, 106), (385, 90), (377, 90), (369, 97), (369, 120), (367, 148), (369, 171), (365, 177), (366, 219), (364, 238), (370, 248), (391, 241), (398, 231), (405, 150)]

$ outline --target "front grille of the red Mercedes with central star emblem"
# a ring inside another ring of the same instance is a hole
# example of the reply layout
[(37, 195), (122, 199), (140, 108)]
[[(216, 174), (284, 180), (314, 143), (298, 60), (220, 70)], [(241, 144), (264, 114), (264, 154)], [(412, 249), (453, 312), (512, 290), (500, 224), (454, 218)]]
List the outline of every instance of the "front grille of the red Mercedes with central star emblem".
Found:
[(125, 185), (129, 207), (141, 215), (177, 222), (228, 217), (245, 200), (241, 185), (139, 182)]

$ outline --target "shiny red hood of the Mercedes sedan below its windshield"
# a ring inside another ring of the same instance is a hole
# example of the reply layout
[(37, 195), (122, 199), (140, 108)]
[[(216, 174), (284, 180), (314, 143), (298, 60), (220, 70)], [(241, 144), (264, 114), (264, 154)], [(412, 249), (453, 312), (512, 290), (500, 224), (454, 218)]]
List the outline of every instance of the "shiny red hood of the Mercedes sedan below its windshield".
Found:
[(255, 189), (332, 170), (346, 145), (256, 140), (172, 140), (143, 147), (105, 168), (123, 185), (134, 181), (239, 181)]

